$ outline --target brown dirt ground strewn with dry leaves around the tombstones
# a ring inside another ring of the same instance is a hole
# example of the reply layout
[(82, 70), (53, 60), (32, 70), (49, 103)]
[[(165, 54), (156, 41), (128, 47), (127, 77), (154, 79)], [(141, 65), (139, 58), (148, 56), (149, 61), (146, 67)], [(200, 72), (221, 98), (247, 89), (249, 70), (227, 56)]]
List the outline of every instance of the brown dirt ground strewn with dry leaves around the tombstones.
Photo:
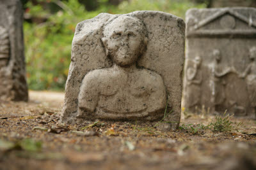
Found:
[(131, 122), (67, 127), (58, 123), (63, 93), (29, 97), (0, 101), (0, 169), (256, 169), (256, 120), (232, 117), (228, 132), (197, 126), (211, 115), (186, 115), (170, 132)]

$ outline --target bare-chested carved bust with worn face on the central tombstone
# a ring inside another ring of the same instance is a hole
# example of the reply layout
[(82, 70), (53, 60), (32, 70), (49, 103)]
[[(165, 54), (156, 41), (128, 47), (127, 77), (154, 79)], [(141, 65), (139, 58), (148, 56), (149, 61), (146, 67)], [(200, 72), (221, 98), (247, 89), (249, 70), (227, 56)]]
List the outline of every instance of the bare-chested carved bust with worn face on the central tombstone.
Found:
[(136, 17), (121, 15), (106, 24), (103, 34), (102, 43), (113, 66), (84, 76), (78, 117), (159, 118), (156, 113), (164, 113), (166, 106), (163, 79), (154, 71), (136, 66), (147, 48), (145, 25)]

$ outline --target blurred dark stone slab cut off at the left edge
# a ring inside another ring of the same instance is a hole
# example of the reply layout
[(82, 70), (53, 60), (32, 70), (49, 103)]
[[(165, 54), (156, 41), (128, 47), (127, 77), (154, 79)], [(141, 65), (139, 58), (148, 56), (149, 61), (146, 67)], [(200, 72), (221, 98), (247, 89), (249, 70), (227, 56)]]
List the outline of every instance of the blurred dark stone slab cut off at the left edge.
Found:
[(0, 3), (0, 100), (28, 101), (20, 1)]

